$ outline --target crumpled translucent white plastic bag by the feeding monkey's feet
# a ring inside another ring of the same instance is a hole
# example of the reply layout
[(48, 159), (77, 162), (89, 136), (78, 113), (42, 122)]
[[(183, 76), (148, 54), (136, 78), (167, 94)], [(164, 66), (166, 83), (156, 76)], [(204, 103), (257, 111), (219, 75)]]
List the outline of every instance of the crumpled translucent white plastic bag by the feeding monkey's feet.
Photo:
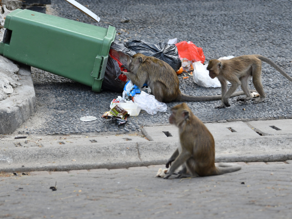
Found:
[(156, 114), (157, 112), (166, 112), (167, 110), (165, 103), (159, 102), (153, 95), (149, 95), (144, 91), (134, 96), (134, 103), (150, 115)]

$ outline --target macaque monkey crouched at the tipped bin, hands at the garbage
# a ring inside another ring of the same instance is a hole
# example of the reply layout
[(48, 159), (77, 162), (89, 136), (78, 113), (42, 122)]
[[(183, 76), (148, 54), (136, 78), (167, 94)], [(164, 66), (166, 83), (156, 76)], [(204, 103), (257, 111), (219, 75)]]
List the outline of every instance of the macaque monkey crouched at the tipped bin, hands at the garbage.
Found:
[[(166, 62), (154, 57), (137, 53), (132, 56), (132, 62), (122, 65), (128, 72), (124, 72), (129, 80), (138, 87), (145, 83), (151, 89), (151, 94), (159, 102), (172, 101), (209, 101), (220, 100), (221, 95), (212, 96), (190, 96), (180, 92), (178, 76), (173, 68)], [(253, 92), (253, 91), (251, 91)], [(239, 91), (232, 96), (244, 94)]]

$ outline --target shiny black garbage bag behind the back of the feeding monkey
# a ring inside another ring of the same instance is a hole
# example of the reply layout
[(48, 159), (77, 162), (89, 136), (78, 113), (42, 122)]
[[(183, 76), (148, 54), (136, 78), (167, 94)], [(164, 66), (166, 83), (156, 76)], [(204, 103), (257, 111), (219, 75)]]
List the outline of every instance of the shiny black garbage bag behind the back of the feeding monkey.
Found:
[(147, 56), (154, 56), (155, 58), (168, 63), (175, 71), (181, 67), (182, 63), (178, 58), (178, 48), (174, 44), (153, 44), (145, 40), (132, 40), (125, 44), (130, 51), (142, 53)]

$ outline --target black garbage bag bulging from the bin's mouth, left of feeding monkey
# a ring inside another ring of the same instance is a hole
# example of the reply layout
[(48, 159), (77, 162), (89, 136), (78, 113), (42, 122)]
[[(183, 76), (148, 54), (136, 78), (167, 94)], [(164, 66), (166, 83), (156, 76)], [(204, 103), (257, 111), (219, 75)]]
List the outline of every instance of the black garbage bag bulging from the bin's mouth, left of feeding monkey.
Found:
[(116, 60), (108, 57), (105, 76), (103, 78), (101, 89), (104, 91), (113, 91), (123, 93), (126, 81), (121, 81), (118, 77), (121, 74), (121, 69)]

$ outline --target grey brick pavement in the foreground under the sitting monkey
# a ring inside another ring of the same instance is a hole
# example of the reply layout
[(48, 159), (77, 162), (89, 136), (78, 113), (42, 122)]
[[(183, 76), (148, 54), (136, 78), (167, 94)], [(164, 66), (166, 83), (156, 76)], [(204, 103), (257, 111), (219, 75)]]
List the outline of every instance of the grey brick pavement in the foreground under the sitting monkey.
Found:
[(164, 166), (2, 173), (0, 218), (291, 218), (292, 165), (240, 164), (183, 180), (154, 178)]

